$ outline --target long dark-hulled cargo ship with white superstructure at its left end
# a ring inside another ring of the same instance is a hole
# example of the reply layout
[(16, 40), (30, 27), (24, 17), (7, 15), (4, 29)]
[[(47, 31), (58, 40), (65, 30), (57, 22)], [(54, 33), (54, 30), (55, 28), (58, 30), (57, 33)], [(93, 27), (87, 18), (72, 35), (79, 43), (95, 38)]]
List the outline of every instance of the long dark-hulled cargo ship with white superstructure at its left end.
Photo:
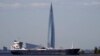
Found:
[(25, 49), (22, 42), (15, 41), (11, 46), (11, 54), (13, 55), (78, 55), (79, 49), (56, 49), (56, 48), (37, 48)]

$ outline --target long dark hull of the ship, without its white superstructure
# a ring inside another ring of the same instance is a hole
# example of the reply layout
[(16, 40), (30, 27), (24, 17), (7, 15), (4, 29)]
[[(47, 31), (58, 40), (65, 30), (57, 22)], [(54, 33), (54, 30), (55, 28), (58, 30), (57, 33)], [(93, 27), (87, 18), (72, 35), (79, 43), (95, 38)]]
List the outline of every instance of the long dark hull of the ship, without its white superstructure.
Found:
[(11, 50), (13, 55), (78, 55), (79, 49)]

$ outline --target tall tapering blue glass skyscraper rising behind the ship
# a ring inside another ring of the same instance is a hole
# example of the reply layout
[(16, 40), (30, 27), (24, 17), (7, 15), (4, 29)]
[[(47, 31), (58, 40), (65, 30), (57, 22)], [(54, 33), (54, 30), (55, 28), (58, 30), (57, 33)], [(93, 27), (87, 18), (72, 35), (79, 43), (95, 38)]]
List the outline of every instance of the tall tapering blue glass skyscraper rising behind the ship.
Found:
[(54, 29), (52, 3), (51, 3), (51, 6), (50, 6), (50, 14), (49, 14), (48, 48), (55, 48), (55, 29)]

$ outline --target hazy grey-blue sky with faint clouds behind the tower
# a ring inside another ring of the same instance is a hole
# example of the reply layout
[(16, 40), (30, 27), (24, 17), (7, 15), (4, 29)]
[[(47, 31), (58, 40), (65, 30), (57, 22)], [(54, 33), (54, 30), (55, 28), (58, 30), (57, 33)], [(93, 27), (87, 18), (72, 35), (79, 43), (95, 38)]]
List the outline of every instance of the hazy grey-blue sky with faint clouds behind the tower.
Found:
[(14, 40), (46, 47), (51, 1), (57, 48), (100, 46), (100, 0), (0, 0), (0, 48)]

